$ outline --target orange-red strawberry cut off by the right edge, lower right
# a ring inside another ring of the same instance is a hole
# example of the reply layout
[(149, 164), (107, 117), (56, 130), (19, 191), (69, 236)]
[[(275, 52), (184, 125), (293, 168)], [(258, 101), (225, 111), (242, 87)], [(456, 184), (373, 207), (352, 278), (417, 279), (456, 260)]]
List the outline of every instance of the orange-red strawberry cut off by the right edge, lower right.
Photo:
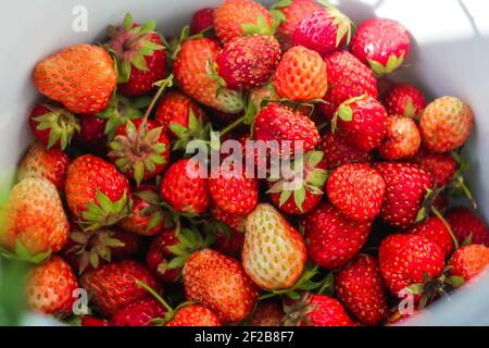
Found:
[(450, 274), (471, 281), (489, 266), (489, 248), (473, 244), (460, 248), (450, 259)]

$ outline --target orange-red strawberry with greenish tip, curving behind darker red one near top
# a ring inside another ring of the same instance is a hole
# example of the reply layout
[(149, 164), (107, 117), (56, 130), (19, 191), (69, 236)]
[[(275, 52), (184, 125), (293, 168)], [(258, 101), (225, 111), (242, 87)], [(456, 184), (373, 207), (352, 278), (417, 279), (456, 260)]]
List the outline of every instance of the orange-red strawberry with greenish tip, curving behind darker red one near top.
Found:
[(218, 52), (215, 40), (187, 40), (177, 54), (173, 72), (181, 90), (198, 102), (223, 112), (237, 113), (244, 107), (241, 92), (220, 88), (217, 80), (209, 74)]

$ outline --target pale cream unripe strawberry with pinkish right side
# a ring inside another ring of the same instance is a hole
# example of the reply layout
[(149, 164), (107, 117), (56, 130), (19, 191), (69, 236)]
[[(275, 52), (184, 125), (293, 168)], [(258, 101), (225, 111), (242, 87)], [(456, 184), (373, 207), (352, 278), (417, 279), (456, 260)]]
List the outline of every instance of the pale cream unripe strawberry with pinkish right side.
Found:
[(280, 213), (262, 203), (247, 217), (242, 266), (262, 289), (291, 287), (308, 259), (305, 243)]

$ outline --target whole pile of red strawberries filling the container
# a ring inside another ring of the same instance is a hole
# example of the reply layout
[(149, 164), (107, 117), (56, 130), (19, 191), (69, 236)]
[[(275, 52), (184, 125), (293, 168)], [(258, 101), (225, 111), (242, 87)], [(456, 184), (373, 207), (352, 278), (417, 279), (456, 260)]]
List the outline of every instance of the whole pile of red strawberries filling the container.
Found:
[[(380, 325), (477, 282), (489, 229), (450, 204), (475, 204), (460, 156), (473, 113), (387, 79), (409, 51), (394, 21), (225, 0), (177, 38), (127, 14), (103, 45), (41, 60), (0, 236), (32, 263), (29, 308), (82, 325)], [(242, 156), (303, 175), (223, 161), (204, 176), (185, 151), (229, 139), (300, 142)]]

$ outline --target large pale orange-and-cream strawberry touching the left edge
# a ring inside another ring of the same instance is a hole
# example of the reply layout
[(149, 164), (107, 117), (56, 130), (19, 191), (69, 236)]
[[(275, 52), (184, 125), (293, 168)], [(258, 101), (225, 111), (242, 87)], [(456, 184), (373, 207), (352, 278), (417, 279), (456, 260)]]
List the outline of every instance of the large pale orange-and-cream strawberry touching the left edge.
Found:
[(70, 224), (60, 195), (45, 178), (27, 177), (16, 184), (0, 213), (1, 245), (17, 254), (39, 254), (34, 261), (60, 251), (68, 239)]

